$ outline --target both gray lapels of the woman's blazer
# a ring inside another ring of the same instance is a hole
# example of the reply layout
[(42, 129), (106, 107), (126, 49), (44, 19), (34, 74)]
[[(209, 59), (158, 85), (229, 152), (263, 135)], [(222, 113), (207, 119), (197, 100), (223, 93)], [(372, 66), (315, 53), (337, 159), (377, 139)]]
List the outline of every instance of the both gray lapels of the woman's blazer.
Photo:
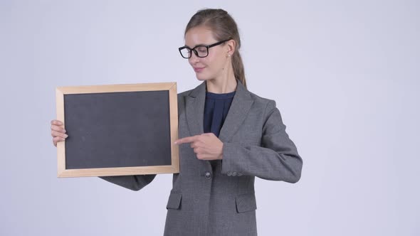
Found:
[[(246, 87), (239, 80), (236, 80), (236, 92), (233, 97), (231, 107), (226, 116), (223, 126), (219, 134), (219, 139), (223, 142), (229, 141), (233, 134), (241, 127), (243, 120), (246, 118), (253, 100)], [(191, 136), (204, 133), (204, 103), (206, 102), (206, 81), (197, 86), (186, 97), (186, 113), (187, 124)]]

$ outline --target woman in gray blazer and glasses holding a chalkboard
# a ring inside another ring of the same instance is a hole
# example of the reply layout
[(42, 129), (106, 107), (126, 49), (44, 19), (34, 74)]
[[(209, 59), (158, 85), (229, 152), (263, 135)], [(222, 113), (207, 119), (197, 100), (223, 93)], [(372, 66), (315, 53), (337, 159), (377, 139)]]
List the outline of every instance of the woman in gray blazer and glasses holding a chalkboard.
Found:
[[(204, 82), (178, 95), (180, 173), (164, 235), (257, 235), (255, 176), (295, 183), (302, 159), (275, 102), (246, 89), (233, 18), (221, 9), (198, 11), (184, 38), (179, 52)], [(52, 121), (54, 145), (67, 137), (62, 124)], [(154, 176), (100, 178), (138, 191)]]

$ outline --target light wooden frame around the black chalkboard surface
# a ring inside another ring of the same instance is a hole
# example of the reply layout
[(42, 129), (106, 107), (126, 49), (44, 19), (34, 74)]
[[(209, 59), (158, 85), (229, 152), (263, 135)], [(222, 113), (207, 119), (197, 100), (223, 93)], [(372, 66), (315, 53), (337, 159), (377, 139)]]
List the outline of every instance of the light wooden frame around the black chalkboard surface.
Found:
[(65, 95), (107, 93), (107, 92), (138, 92), (138, 91), (169, 91), (169, 122), (171, 141), (171, 165), (170, 166), (130, 166), (112, 168), (65, 168), (65, 141), (57, 143), (58, 177), (82, 177), (82, 176), (127, 176), (152, 173), (179, 173), (179, 149), (174, 141), (178, 139), (178, 104), (177, 83), (159, 82), (127, 85), (97, 85), (78, 87), (56, 88), (57, 119), (64, 123), (65, 127)]

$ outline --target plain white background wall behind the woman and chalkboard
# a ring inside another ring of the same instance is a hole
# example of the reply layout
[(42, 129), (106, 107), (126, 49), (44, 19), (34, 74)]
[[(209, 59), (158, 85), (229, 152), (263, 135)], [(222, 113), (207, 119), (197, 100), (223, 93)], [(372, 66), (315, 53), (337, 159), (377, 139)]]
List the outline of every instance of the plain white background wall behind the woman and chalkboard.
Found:
[(0, 0), (0, 235), (162, 235), (172, 175), (134, 192), (57, 178), (55, 88), (199, 85), (177, 48), (199, 9), (238, 23), (298, 183), (256, 180), (259, 235), (420, 235), (419, 1)]

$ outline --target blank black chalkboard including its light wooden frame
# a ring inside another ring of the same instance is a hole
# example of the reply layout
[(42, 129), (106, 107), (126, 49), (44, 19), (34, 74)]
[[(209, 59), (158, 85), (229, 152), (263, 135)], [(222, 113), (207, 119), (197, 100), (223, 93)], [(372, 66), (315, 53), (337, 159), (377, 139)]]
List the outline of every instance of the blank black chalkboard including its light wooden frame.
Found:
[(57, 88), (58, 176), (178, 173), (176, 83)]

